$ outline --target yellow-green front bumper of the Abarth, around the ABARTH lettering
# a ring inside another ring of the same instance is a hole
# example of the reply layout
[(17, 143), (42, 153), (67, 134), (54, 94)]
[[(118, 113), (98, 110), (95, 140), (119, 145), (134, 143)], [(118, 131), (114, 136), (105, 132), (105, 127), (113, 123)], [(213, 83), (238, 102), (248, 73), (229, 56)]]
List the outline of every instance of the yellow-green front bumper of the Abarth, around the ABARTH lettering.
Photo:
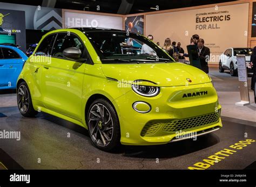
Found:
[[(183, 98), (184, 93), (207, 91), (207, 95)], [(151, 105), (139, 113), (134, 102)], [(212, 83), (161, 87), (156, 97), (143, 97), (132, 90), (113, 101), (117, 109), (123, 145), (159, 145), (180, 139), (184, 134), (199, 135), (222, 127), (221, 106)]]

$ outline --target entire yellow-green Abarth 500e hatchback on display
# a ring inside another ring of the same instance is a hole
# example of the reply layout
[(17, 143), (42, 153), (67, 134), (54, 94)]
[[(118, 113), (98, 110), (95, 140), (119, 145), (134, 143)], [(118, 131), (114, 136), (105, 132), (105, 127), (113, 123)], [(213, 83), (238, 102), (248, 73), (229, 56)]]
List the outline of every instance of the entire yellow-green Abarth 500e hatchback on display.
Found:
[(198, 68), (140, 34), (69, 28), (44, 35), (17, 82), (21, 114), (89, 130), (93, 145), (159, 145), (218, 130), (217, 93)]

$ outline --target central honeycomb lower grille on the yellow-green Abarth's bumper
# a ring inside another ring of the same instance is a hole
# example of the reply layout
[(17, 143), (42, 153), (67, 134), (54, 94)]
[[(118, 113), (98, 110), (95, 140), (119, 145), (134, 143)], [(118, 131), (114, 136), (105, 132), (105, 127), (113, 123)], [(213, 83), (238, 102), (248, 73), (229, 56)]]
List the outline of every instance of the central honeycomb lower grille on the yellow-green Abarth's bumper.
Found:
[(201, 126), (218, 123), (219, 118), (220, 118), (220, 113), (214, 112), (210, 114), (205, 114), (203, 116), (177, 119), (167, 123), (164, 126), (163, 131), (165, 132), (187, 131), (193, 128), (198, 128)]

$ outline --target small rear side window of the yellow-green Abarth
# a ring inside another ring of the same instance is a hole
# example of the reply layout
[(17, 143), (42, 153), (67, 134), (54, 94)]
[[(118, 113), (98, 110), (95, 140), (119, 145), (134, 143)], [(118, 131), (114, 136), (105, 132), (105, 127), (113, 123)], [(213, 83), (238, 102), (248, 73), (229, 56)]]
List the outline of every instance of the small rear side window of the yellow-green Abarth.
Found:
[(41, 44), (38, 46), (36, 55), (49, 55), (51, 51), (51, 45), (53, 40), (55, 39), (56, 34), (49, 35), (46, 37)]

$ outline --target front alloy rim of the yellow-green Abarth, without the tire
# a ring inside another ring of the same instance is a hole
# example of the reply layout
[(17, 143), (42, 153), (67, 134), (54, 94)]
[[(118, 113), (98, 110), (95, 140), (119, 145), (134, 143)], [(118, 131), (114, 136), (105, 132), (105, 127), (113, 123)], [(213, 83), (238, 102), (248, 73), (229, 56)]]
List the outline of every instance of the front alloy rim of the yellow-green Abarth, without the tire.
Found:
[(97, 103), (91, 107), (88, 128), (92, 138), (100, 147), (109, 145), (113, 138), (113, 119), (107, 107)]

